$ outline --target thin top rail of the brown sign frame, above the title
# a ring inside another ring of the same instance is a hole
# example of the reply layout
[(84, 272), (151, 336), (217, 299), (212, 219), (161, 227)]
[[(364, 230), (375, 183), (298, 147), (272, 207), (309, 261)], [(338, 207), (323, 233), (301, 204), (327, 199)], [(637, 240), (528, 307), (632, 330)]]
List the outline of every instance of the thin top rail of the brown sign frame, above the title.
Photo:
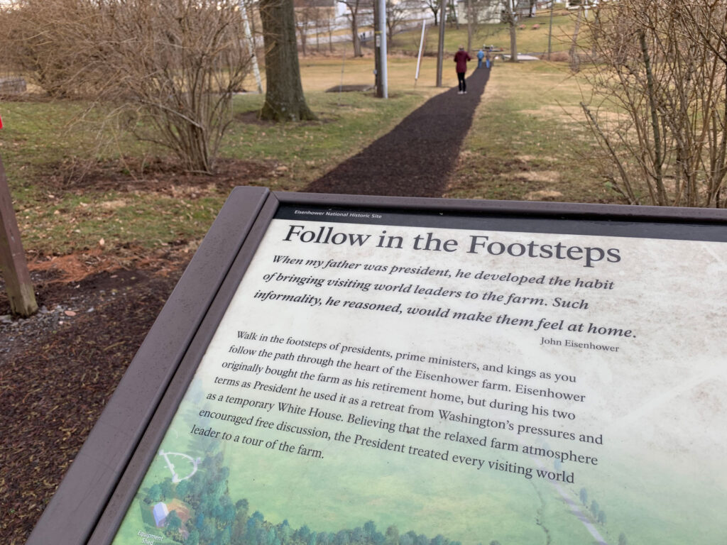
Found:
[(632, 206), (530, 201), (486, 201), (423, 197), (386, 197), (377, 195), (334, 195), (328, 193), (273, 192), (285, 205), (360, 206), (401, 211), (427, 210), (477, 212), (542, 217), (544, 219), (603, 219), (640, 222), (727, 223), (727, 209), (683, 208), (678, 206)]

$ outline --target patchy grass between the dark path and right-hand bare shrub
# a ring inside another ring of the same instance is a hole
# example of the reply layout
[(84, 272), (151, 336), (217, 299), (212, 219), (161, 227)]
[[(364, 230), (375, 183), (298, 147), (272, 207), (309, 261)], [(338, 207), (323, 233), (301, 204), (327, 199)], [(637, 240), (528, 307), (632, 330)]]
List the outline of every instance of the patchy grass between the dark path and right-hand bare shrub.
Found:
[(563, 63), (496, 62), (446, 196), (616, 203)]

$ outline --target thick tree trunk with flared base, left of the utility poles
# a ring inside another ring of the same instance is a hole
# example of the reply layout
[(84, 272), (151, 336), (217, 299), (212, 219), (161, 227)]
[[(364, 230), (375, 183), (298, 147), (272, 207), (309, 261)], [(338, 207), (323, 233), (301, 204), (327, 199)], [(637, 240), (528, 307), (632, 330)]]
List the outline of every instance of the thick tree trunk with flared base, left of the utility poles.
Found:
[(267, 79), (260, 118), (273, 121), (316, 119), (305, 103), (300, 83), (292, 0), (260, 0), (260, 19), (265, 38)]

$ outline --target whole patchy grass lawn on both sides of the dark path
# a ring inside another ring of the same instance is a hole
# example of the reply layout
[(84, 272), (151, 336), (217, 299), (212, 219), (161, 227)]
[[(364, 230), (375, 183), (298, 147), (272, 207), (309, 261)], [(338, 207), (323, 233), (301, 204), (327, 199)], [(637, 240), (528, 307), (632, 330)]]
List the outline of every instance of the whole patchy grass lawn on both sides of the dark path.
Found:
[[(547, 49), (547, 20), (547, 14), (527, 20), (540, 28), (519, 31), (523, 48)], [(553, 35), (558, 31), (567, 36), (572, 23), (570, 15), (554, 17)], [(392, 51), (416, 50), (419, 36), (416, 29), (397, 34)], [(483, 25), (476, 43), (505, 46), (506, 38), (503, 25)], [(463, 39), (465, 25), (448, 28), (446, 49), (454, 51)], [(435, 47), (435, 41), (432, 32), (427, 48)], [(388, 100), (371, 92), (326, 92), (373, 83), (370, 52), (353, 58), (339, 47), (336, 55), (300, 57), (306, 100), (319, 121), (260, 123), (254, 113), (262, 96), (235, 98), (235, 121), (220, 150), (222, 170), (228, 165), (225, 183), (219, 177), (185, 177), (160, 169), (155, 166), (158, 158), (169, 163), (166, 150), (113, 130), (103, 118), (87, 113), (82, 101), (1, 102), (5, 129), (0, 132), (0, 154), (31, 259), (74, 252), (119, 256), (168, 246), (193, 249), (231, 185), (302, 190), (389, 132), (425, 100), (456, 84), (454, 70), (445, 69), (443, 88), (435, 86), (431, 56), (422, 59), (415, 80), (416, 57), (394, 53), (388, 62)], [(254, 85), (251, 80), (246, 86)], [(558, 105), (577, 115), (578, 101), (575, 81), (560, 66), (500, 62), (447, 196), (612, 200), (579, 156), (588, 151), (582, 127)]]

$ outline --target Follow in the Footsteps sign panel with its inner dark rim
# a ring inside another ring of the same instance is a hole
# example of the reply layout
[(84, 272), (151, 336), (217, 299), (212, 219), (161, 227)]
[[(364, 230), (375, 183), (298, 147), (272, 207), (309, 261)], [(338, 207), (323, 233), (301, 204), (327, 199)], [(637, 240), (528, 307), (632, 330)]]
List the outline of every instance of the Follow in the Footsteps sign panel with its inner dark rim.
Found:
[(269, 195), (89, 542), (726, 542), (727, 218), (683, 214)]

